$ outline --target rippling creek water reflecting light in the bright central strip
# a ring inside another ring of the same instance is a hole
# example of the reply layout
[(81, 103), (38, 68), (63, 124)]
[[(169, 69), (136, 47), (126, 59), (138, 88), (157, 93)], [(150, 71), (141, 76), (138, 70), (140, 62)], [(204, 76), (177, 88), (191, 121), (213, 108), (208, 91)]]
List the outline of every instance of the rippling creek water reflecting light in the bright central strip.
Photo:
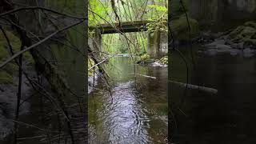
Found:
[(106, 64), (112, 96), (98, 80), (89, 96), (90, 143), (167, 143), (167, 68), (135, 70), (157, 79), (134, 78), (130, 58)]

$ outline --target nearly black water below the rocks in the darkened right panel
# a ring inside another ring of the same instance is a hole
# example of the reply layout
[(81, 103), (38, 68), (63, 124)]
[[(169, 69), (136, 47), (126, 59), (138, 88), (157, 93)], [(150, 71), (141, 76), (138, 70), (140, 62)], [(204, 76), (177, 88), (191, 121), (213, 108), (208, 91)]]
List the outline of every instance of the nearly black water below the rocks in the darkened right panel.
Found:
[[(187, 61), (190, 50), (180, 47)], [(194, 46), (194, 52), (204, 51)], [(170, 86), (173, 117), (172, 141), (177, 144), (252, 144), (256, 143), (256, 58), (243, 54), (196, 53), (196, 67), (190, 65), (189, 83), (218, 90), (209, 94), (199, 90)], [(186, 82), (186, 66), (172, 54), (172, 79)], [(189, 62), (190, 63), (190, 62)], [(180, 105), (180, 102), (184, 102)], [(178, 110), (178, 106), (180, 109)]]

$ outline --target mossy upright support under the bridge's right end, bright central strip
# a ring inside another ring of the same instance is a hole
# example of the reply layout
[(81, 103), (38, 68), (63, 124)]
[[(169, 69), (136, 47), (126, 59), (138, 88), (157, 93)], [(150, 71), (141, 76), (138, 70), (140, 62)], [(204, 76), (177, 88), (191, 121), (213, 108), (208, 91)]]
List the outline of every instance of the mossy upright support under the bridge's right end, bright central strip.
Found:
[(148, 34), (147, 54), (151, 58), (160, 58), (168, 54), (168, 36), (166, 32), (155, 30)]

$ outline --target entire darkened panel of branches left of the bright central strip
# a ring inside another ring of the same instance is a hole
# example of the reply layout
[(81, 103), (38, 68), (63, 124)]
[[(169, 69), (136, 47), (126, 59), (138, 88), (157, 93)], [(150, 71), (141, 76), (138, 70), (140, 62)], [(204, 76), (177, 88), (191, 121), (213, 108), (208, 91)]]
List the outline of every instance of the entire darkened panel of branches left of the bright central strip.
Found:
[(85, 7), (0, 1), (0, 143), (87, 141)]

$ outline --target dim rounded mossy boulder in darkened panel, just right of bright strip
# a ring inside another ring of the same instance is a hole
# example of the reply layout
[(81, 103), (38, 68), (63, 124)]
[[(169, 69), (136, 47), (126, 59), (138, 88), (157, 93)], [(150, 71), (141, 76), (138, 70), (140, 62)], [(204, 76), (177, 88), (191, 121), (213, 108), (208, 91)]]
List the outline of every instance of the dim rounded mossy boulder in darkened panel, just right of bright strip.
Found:
[[(188, 18), (188, 20), (190, 22), (191, 37), (194, 38), (199, 34), (198, 21), (193, 18)], [(189, 40), (190, 30), (186, 20), (186, 16), (175, 19), (173, 22), (171, 22), (170, 26), (170, 28), (174, 32), (174, 37), (176, 39), (186, 41)]]

